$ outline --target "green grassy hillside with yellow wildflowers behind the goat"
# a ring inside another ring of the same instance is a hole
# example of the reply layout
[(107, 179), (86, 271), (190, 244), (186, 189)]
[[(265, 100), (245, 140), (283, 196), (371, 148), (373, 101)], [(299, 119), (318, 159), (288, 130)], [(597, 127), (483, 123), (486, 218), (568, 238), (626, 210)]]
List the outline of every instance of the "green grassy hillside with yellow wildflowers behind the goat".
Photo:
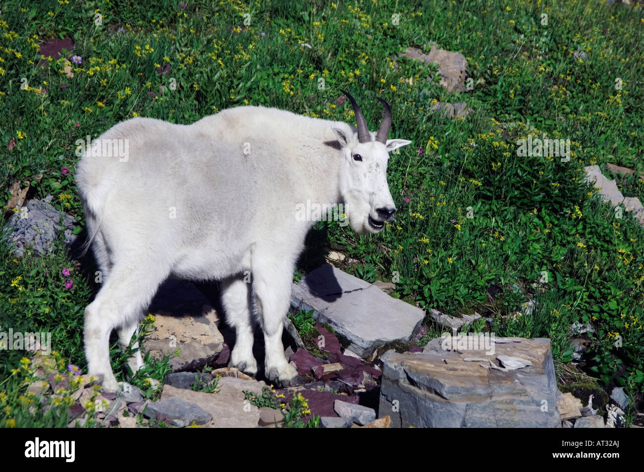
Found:
[[(0, 127), (0, 202), (16, 180), (30, 182), (30, 194), (52, 194), (83, 225), (73, 182), (78, 140), (133, 116), (188, 124), (252, 104), (352, 122), (336, 101), (345, 88), (375, 126), (378, 95), (392, 105), (390, 137), (413, 140), (388, 169), (396, 221), (377, 236), (337, 222), (319, 223), (316, 234), (359, 261), (355, 273), (395, 281), (395, 296), (450, 314), (477, 310), (495, 319), (488, 328), (497, 334), (551, 337), (559, 360), (567, 359), (568, 323), (590, 321), (587, 372), (641, 401), (644, 236), (629, 214), (616, 218), (582, 184), (585, 165), (643, 169), (641, 7), (198, 0), (153, 8), (3, 5), (0, 116), (10, 119)], [(73, 78), (63, 59), (39, 56), (37, 44), (57, 37), (72, 38), (82, 57), (71, 64)], [(407, 46), (428, 52), (431, 42), (468, 58), (473, 90), (448, 93), (426, 82), (435, 66), (395, 66)], [(465, 101), (475, 113), (448, 120), (430, 113), (435, 100)], [(528, 133), (571, 140), (569, 162), (518, 156), (516, 141)], [(5, 246), (0, 256), (1, 329), (51, 331), (53, 348), (85, 369), (83, 309), (97, 290), (95, 268), (71, 265), (62, 243), (52, 256), (17, 259)], [(528, 299), (538, 309), (507, 321)], [(0, 350), (0, 381), (23, 355)]]

